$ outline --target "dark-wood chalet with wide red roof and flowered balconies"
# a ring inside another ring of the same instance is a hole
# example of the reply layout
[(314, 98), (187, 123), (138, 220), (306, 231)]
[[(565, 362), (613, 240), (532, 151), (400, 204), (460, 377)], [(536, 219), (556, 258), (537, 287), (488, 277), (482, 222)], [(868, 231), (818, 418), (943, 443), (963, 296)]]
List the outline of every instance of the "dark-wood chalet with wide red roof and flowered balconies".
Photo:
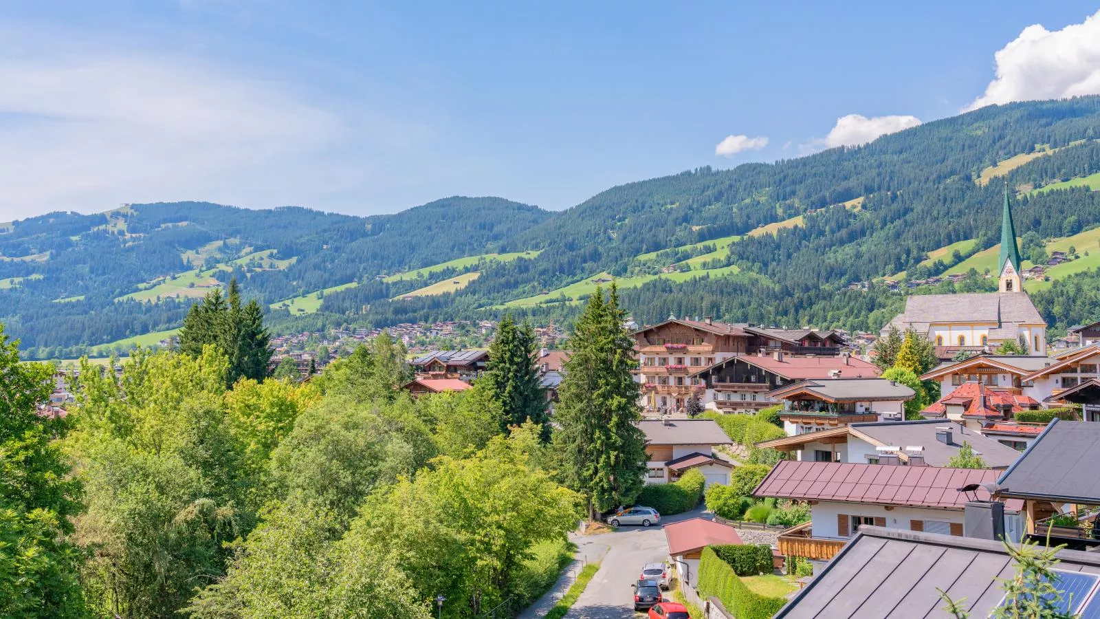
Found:
[(873, 363), (839, 356), (795, 356), (783, 350), (738, 355), (689, 374), (704, 388), (703, 404), (723, 413), (755, 413), (777, 402), (770, 391), (811, 379), (873, 378), (881, 370)]

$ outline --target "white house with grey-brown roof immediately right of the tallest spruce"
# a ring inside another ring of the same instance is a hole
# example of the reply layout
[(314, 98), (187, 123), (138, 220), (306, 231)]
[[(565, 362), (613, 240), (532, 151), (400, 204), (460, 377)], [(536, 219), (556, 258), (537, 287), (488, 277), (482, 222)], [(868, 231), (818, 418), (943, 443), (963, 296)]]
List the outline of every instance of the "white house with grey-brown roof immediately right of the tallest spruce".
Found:
[(718, 457), (714, 446), (733, 441), (713, 420), (642, 421), (638, 427), (646, 434), (646, 484), (675, 481), (693, 468), (703, 474), (707, 486), (729, 484), (734, 465)]

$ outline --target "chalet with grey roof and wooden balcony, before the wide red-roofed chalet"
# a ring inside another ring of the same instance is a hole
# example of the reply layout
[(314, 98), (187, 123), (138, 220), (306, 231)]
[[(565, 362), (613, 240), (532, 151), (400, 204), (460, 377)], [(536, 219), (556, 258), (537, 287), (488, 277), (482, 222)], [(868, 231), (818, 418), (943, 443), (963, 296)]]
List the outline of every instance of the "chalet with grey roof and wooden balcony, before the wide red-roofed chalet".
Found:
[(787, 435), (794, 436), (850, 423), (900, 421), (905, 402), (916, 393), (883, 378), (835, 378), (804, 380), (768, 395), (783, 403), (779, 417)]

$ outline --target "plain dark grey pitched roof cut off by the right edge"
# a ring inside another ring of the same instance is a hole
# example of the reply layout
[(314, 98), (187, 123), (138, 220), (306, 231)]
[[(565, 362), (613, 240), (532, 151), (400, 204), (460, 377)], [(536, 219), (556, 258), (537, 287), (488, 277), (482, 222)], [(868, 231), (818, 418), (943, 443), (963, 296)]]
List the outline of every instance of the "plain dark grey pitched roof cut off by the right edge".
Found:
[(1100, 423), (1054, 420), (997, 480), (1004, 497), (1100, 504)]

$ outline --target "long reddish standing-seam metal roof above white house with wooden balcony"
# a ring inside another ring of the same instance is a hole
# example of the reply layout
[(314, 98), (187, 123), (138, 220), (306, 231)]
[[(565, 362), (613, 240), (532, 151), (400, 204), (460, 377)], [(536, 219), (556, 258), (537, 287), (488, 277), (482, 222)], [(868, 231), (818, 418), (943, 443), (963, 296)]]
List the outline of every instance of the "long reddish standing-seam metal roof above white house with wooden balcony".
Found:
[[(992, 469), (910, 467), (783, 460), (754, 490), (754, 497), (963, 509), (958, 491), (968, 484), (997, 481)], [(985, 489), (980, 500), (989, 500)]]

